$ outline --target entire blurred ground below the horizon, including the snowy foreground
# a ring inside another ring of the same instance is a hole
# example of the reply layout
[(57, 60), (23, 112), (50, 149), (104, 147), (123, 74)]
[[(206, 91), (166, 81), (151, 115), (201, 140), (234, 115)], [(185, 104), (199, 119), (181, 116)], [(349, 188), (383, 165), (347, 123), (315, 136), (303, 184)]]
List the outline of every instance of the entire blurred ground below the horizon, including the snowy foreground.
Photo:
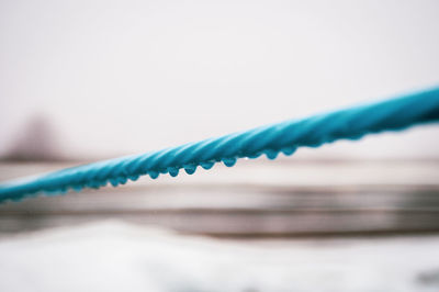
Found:
[(7, 203), (0, 291), (438, 291), (438, 166), (243, 160)]

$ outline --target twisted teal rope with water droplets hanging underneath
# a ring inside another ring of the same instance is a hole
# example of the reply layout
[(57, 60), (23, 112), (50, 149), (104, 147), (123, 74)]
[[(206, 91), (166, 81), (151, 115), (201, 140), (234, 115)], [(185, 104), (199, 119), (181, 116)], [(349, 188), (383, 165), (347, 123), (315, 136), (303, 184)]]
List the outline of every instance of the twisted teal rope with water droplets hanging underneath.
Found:
[(124, 184), (128, 179), (159, 173), (176, 177), (183, 168), (192, 175), (196, 167), (210, 169), (217, 161), (235, 165), (237, 158), (257, 158), (266, 154), (274, 159), (282, 151), (292, 155), (297, 147), (318, 147), (337, 139), (358, 139), (365, 134), (398, 131), (439, 121), (439, 88), (378, 103), (314, 115), (303, 120), (257, 127), (217, 138), (143, 155), (127, 156), (72, 167), (26, 180), (0, 184), (0, 202), (21, 200), (38, 192), (64, 193), (98, 189), (110, 182)]

